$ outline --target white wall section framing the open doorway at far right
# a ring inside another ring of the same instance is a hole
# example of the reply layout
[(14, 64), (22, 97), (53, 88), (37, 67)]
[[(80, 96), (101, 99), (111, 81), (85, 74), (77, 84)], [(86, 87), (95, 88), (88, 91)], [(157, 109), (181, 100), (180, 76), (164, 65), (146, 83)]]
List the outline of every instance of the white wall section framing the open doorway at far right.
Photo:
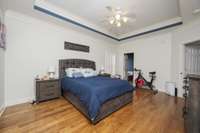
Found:
[[(200, 40), (200, 19), (180, 26), (172, 32), (172, 80), (177, 83), (179, 96), (183, 93), (184, 44)], [(181, 74), (183, 73), (183, 74)]]

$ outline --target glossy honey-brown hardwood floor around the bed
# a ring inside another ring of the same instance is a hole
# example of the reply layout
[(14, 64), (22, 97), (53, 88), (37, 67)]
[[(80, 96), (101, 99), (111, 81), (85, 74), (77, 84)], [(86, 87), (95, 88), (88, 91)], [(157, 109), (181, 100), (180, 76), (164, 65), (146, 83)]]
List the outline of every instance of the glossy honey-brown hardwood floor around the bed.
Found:
[(137, 90), (134, 102), (96, 125), (65, 99), (9, 107), (0, 118), (0, 133), (184, 133), (183, 100)]

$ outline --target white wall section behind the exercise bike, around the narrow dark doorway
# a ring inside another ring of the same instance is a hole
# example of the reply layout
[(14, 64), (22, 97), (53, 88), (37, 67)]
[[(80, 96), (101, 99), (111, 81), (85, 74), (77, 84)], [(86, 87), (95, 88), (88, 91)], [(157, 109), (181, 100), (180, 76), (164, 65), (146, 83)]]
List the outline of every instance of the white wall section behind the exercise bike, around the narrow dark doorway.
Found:
[(171, 34), (152, 34), (124, 42), (118, 47), (118, 73), (123, 75), (124, 53), (134, 52), (134, 67), (142, 69), (144, 77), (156, 71), (156, 88), (165, 91), (166, 81), (170, 81)]

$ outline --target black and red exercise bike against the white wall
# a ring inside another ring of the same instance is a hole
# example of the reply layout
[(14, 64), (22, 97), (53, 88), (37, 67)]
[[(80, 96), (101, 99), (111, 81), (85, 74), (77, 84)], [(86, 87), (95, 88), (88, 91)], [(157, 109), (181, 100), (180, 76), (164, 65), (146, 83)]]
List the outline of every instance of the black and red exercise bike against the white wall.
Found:
[(142, 88), (142, 87), (148, 87), (151, 91), (153, 91), (154, 94), (158, 93), (158, 90), (155, 90), (155, 86), (153, 85), (153, 82), (156, 78), (156, 72), (149, 72), (149, 77), (151, 78), (150, 81), (147, 81), (143, 75), (142, 70), (140, 69), (134, 69), (135, 72), (138, 72), (138, 76), (135, 80), (136, 88)]

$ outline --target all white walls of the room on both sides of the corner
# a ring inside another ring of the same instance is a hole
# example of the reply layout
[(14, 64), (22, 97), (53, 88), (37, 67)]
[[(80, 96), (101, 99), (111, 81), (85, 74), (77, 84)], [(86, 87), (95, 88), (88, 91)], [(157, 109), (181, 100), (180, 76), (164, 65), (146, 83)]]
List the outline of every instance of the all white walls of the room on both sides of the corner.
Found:
[[(0, 51), (2, 61), (5, 56), (5, 66), (2, 63), (0, 65), (4, 67), (0, 68), (5, 68), (7, 106), (33, 100), (34, 77), (37, 74), (45, 74), (49, 66), (58, 68), (59, 59), (90, 59), (96, 61), (97, 69), (105, 66), (106, 71), (111, 72), (110, 59), (116, 52), (117, 73), (123, 74), (123, 54), (134, 52), (135, 67), (141, 68), (146, 74), (145, 77), (148, 77), (149, 71), (157, 72), (157, 89), (164, 91), (165, 82), (174, 81), (181, 96), (182, 77), (179, 73), (183, 71), (183, 44), (200, 39), (199, 20), (175, 30), (156, 32), (123, 41), (119, 45), (99, 36), (94, 37), (93, 32), (76, 30), (76, 26), (64, 28), (12, 11), (6, 12), (5, 21), (8, 42), (6, 52)], [(89, 45), (91, 52), (64, 50), (64, 41)], [(3, 80), (4, 78), (1, 78), (1, 85)]]

